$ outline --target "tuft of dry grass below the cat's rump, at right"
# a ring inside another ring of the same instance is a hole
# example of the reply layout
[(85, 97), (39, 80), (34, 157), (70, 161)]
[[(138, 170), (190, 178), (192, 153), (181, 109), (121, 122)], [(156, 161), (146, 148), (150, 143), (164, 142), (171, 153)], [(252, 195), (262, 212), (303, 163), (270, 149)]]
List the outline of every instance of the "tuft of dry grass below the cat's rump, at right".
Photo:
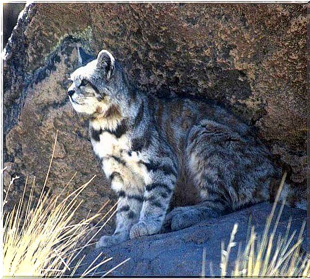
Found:
[[(289, 220), (284, 236), (276, 237), (276, 231), (283, 211), (284, 201), (281, 204), (278, 216), (273, 229), (271, 228), (275, 210), (279, 200), (280, 192), (286, 178), (284, 174), (280, 183), (279, 191), (275, 199), (272, 212), (270, 212), (264, 232), (261, 237), (257, 237), (255, 228), (250, 228), (249, 237), (244, 249), (239, 245), (237, 259), (231, 276), (310, 276), (310, 258), (306, 253), (301, 253), (303, 241), (303, 231), (305, 222), (299, 232), (296, 243), (293, 243), (296, 232), (290, 234), (291, 221)], [(229, 243), (226, 249), (222, 243), (221, 276), (227, 276), (227, 265), (231, 248), (236, 246), (234, 241), (237, 233), (237, 224), (231, 232)]]

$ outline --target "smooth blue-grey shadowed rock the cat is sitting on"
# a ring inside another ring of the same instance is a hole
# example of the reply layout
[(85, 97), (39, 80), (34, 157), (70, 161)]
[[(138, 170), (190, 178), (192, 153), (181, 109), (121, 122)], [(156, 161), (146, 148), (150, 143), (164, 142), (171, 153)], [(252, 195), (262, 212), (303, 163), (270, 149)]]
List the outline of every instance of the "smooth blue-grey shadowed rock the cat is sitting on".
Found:
[[(111, 276), (200, 276), (202, 270), (203, 248), (206, 248), (206, 276), (220, 276), (221, 269), (221, 242), (227, 249), (231, 231), (235, 223), (238, 223), (238, 230), (235, 242), (244, 245), (247, 239), (248, 220), (251, 216), (251, 226), (255, 227), (257, 237), (261, 236), (268, 214), (271, 212), (272, 204), (263, 202), (253, 207), (246, 208), (222, 217), (201, 222), (201, 224), (185, 230), (144, 236), (126, 241), (113, 248), (95, 249), (86, 255), (83, 266), (76, 274), (83, 271), (102, 253), (92, 266), (99, 264), (103, 258), (112, 257), (112, 260), (98, 269), (94, 275), (103, 275), (105, 272), (122, 263), (130, 260), (109, 275)], [(279, 209), (279, 206), (278, 206)], [(278, 216), (278, 210), (274, 215)], [(279, 226), (276, 232), (274, 243), (277, 238), (285, 235), (289, 218), (292, 218), (289, 236), (296, 230), (298, 235), (301, 224), (306, 218), (306, 212), (299, 209), (284, 207)], [(274, 224), (274, 222), (272, 223)], [(270, 227), (273, 230), (273, 225)], [(296, 243), (295, 235), (292, 243)], [(244, 248), (244, 246), (243, 246)], [(231, 249), (229, 255), (227, 274), (231, 274), (238, 253), (238, 246)], [(212, 266), (212, 272), (210, 270)]]

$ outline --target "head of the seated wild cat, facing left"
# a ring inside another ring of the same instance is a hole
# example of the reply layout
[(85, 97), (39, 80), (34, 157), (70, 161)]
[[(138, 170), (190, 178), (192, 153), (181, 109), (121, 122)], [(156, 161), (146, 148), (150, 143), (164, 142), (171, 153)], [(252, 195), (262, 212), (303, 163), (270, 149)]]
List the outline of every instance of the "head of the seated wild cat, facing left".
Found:
[[(85, 52), (79, 48), (79, 60), (83, 64), (81, 54)], [(117, 79), (113, 55), (101, 50), (96, 59), (76, 69), (70, 76), (72, 84), (68, 88), (68, 96), (73, 108), (88, 116), (104, 115), (118, 101)]]

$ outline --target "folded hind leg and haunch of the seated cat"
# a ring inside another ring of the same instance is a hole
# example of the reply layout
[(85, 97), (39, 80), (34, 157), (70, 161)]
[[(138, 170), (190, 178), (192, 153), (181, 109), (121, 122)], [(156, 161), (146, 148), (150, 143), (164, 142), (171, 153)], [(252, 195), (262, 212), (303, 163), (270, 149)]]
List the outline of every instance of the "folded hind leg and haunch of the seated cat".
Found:
[(251, 138), (245, 139), (243, 132), (242, 127), (237, 132), (211, 120), (192, 127), (186, 157), (201, 203), (172, 210), (166, 217), (172, 230), (267, 197), (266, 181), (273, 175), (273, 166), (266, 150)]

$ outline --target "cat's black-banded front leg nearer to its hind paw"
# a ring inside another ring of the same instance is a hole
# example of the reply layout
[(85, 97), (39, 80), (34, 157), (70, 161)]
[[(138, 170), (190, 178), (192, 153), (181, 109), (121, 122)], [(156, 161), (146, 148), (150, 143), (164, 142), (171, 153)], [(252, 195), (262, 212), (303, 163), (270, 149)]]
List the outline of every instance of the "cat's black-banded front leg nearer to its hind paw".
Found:
[[(175, 188), (176, 172), (163, 171), (163, 166), (153, 170), (153, 183), (146, 185), (144, 201), (137, 224), (130, 230), (130, 238), (160, 232), (169, 201)], [(173, 170), (173, 168), (170, 168)]]

